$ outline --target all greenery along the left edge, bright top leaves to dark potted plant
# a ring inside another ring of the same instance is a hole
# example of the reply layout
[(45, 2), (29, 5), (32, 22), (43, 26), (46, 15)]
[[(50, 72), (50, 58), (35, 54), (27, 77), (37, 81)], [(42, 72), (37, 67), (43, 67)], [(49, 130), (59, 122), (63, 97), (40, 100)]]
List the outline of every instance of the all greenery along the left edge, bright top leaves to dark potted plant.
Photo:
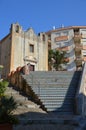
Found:
[(0, 81), (0, 130), (12, 130), (13, 124), (18, 123), (18, 118), (13, 115), (13, 111), (17, 108), (14, 98), (4, 94), (7, 81)]

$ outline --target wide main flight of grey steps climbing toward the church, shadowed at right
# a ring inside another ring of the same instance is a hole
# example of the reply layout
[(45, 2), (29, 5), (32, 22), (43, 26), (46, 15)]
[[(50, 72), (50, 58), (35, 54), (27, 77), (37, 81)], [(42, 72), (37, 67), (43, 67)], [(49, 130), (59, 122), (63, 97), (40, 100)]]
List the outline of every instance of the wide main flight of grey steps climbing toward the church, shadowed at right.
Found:
[(74, 115), (80, 75), (81, 71), (35, 71), (22, 77), (44, 110), (58, 115)]

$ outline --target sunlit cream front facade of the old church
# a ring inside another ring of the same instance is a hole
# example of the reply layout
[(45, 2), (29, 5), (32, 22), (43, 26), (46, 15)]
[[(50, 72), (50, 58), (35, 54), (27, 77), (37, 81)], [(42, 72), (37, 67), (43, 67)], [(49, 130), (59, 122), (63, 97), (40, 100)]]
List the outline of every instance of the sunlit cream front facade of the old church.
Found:
[[(12, 64), (11, 71), (18, 66), (29, 64), (34, 66), (34, 70), (48, 70), (48, 45), (47, 40), (43, 41), (42, 34), (37, 36), (33, 29), (21, 30), (19, 24), (13, 24), (12, 30)], [(15, 32), (16, 26), (21, 31)], [(33, 52), (30, 51), (33, 45)]]

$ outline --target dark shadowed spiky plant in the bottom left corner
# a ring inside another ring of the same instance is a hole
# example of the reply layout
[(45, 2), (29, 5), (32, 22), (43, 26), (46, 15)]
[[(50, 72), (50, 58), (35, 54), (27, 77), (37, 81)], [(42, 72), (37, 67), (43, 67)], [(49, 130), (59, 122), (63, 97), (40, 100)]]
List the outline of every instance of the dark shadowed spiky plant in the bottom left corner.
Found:
[(18, 119), (13, 115), (16, 108), (17, 103), (12, 96), (3, 96), (0, 100), (0, 123), (17, 124)]

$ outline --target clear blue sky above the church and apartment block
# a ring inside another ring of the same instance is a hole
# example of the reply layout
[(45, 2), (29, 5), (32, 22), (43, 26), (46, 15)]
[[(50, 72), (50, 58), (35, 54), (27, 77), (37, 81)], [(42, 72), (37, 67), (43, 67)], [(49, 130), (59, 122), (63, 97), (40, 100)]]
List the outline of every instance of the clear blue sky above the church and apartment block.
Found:
[(72, 25), (86, 25), (86, 0), (0, 0), (0, 39), (11, 23), (36, 33)]

